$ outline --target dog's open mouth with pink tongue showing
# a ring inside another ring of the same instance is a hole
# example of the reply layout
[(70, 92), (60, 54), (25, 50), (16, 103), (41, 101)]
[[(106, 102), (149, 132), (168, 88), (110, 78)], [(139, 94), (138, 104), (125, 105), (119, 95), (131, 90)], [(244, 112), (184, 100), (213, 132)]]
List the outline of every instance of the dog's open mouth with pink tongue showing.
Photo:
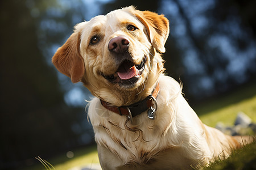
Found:
[(145, 63), (146, 57), (144, 57), (143, 61), (138, 65), (135, 65), (133, 62), (126, 59), (121, 63), (114, 74), (101, 75), (111, 83), (119, 83), (122, 85), (134, 84), (141, 77), (141, 74), (144, 71)]

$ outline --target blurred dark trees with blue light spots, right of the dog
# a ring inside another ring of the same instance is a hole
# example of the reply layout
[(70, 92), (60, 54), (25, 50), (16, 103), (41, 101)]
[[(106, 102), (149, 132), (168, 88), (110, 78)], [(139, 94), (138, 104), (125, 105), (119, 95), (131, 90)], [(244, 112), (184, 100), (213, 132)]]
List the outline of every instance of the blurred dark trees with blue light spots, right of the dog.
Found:
[(162, 1), (159, 9), (171, 20), (165, 66), (181, 78), (187, 97), (201, 100), (255, 79), (255, 6), (240, 0)]

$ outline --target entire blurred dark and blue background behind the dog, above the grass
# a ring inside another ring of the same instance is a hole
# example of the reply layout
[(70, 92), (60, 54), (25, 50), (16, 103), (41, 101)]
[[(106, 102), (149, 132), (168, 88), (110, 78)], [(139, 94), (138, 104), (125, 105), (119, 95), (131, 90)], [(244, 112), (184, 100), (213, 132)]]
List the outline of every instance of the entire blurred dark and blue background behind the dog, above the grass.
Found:
[(1, 1), (0, 169), (94, 145), (85, 112), (92, 95), (58, 73), (51, 57), (73, 25), (130, 5), (170, 20), (165, 67), (189, 104), (247, 87), (245, 97), (256, 94), (256, 1)]

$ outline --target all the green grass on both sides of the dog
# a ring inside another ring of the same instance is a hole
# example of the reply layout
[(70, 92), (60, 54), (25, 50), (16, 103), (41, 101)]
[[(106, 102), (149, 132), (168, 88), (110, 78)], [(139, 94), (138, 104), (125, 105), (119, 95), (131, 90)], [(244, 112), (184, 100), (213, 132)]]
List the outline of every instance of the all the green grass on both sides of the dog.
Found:
[[(204, 124), (213, 127), (217, 122), (223, 122), (225, 125), (233, 125), (238, 112), (247, 114), (253, 122), (256, 122), (255, 87), (256, 84), (250, 84), (226, 96), (204, 101), (204, 103), (196, 105), (193, 109), (195, 109)], [(96, 146), (80, 148), (73, 152), (75, 156), (72, 159), (67, 158), (64, 153), (56, 158), (47, 160), (47, 162), (51, 163), (56, 170), (83, 167), (85, 165), (90, 167), (90, 165), (99, 163)], [(210, 164), (209, 167), (205, 169), (248, 169), (246, 166), (255, 166), (254, 162), (256, 162), (255, 143), (241, 150), (234, 151), (232, 156), (226, 160), (216, 160), (216, 162)], [(25, 168), (24, 170), (34, 169), (43, 170), (46, 168), (44, 168), (43, 164), (38, 162), (36, 166)]]

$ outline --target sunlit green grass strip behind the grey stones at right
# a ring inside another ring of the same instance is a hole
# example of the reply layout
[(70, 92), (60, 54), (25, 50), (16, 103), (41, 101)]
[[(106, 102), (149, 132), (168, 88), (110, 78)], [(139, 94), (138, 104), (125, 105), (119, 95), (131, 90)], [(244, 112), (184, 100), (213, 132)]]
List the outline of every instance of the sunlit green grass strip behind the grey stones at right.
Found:
[(245, 113), (253, 122), (256, 122), (256, 83), (225, 96), (196, 104), (193, 109), (204, 124), (212, 127), (217, 122), (233, 125), (238, 112)]

